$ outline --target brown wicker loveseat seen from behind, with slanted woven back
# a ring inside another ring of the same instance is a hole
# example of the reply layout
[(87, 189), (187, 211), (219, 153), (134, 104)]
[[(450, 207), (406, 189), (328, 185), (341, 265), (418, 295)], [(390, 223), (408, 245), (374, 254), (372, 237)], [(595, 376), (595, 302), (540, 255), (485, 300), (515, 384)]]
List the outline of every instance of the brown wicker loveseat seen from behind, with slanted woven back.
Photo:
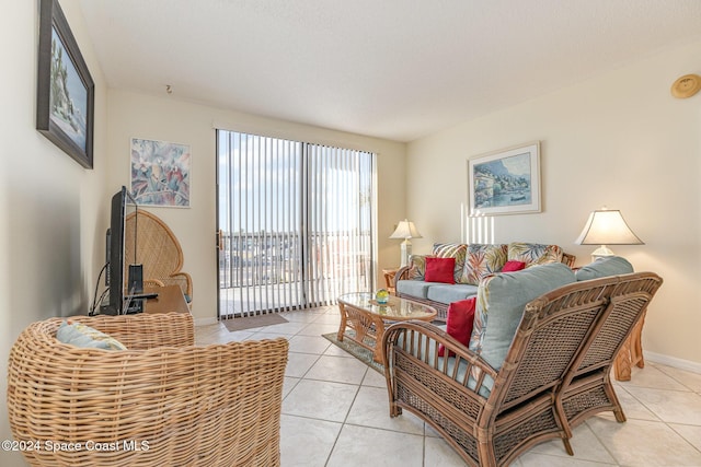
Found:
[[(556, 437), (572, 454), (571, 424), (596, 411), (622, 413), (600, 373), (610, 369), (610, 352), (620, 348), (660, 281), (653, 273), (596, 279), (530, 302), (499, 371), (430, 324), (394, 324), (383, 336), (390, 416), (414, 412), (472, 466), (508, 465)], [(620, 329), (608, 332), (622, 308)], [(605, 341), (607, 357), (599, 358)], [(439, 343), (456, 355), (439, 358)], [(609, 404), (585, 409), (601, 390)]]

